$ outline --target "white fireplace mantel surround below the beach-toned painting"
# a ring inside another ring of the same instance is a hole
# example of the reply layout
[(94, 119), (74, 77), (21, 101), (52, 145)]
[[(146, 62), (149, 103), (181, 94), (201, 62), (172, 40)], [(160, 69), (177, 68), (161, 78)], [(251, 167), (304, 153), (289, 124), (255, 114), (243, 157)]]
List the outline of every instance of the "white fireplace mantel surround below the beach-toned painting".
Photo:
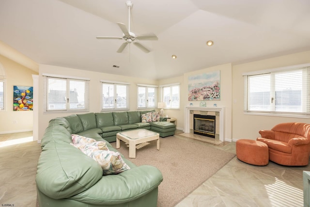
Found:
[(188, 106), (185, 107), (185, 127), (184, 132), (190, 133), (190, 111), (217, 111), (219, 112), (219, 140), (224, 142), (224, 113), (225, 107), (199, 107)]

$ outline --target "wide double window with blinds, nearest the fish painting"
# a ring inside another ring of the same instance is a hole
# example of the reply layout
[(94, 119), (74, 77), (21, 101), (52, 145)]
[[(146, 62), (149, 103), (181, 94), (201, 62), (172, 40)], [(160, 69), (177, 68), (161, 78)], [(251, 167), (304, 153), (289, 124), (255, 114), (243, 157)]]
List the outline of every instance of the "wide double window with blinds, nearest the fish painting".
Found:
[(45, 76), (44, 111), (89, 111), (89, 80)]

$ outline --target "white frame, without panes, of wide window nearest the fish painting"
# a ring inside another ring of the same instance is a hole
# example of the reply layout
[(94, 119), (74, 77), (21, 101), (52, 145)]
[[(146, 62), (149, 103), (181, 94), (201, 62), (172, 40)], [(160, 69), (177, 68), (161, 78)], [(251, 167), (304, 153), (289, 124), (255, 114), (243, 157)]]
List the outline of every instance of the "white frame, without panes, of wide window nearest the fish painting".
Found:
[[(64, 112), (88, 112), (89, 111), (89, 82), (90, 79), (73, 77), (73, 76), (62, 76), (55, 74), (42, 74), (43, 76), (43, 113), (64, 113)], [(65, 109), (49, 109), (50, 104), (48, 101), (49, 93), (48, 93), (48, 80), (65, 80), (66, 81), (66, 90), (65, 97), (70, 97), (70, 81), (83, 81), (84, 85), (84, 107), (83, 108), (71, 108), (70, 107), (70, 98), (66, 98), (67, 101), (65, 103)]]

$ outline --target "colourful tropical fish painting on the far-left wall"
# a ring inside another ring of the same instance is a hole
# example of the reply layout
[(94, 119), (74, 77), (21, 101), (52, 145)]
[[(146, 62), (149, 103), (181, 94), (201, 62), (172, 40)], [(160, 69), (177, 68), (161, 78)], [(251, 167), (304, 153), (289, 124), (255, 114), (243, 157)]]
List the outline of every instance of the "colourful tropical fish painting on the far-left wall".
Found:
[(13, 111), (32, 111), (33, 87), (13, 86)]

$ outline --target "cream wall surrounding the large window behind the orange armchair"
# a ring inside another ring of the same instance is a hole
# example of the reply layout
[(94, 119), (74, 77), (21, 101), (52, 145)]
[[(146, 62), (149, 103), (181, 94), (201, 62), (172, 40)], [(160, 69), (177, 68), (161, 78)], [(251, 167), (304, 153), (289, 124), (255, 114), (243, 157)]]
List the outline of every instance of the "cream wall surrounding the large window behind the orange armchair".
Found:
[(233, 140), (255, 140), (260, 137), (259, 130), (271, 129), (283, 122), (310, 123), (309, 119), (246, 115), (243, 112), (244, 78), (242, 73), (306, 63), (310, 63), (310, 51), (233, 66), (233, 100), (236, 100), (236, 103), (233, 103)]

